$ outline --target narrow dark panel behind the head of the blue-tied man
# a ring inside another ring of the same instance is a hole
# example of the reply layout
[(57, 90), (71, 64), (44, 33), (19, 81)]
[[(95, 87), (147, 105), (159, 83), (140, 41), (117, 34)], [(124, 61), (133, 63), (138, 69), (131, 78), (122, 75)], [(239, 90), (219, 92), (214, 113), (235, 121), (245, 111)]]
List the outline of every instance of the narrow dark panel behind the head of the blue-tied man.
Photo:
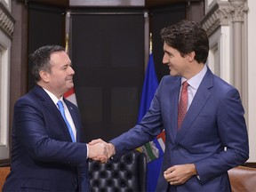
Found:
[[(42, 4), (28, 4), (28, 55), (47, 44), (65, 46), (65, 10)], [(29, 60), (28, 60), (29, 61)], [(28, 63), (28, 90), (35, 85)]]

